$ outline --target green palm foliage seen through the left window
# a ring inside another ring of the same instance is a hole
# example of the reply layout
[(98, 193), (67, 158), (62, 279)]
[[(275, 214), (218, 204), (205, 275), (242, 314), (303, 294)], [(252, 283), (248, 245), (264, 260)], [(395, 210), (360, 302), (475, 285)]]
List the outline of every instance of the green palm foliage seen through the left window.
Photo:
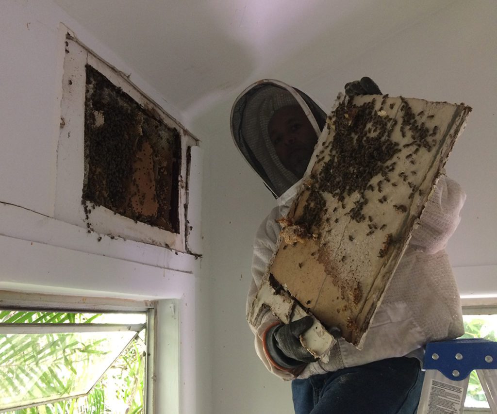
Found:
[[(0, 311), (0, 323), (98, 323), (101, 314), (69, 312)], [(3, 395), (26, 395), (33, 398), (29, 384), (40, 390), (63, 395), (73, 381), (61, 381), (63, 371), (78, 375), (85, 371), (92, 355), (101, 354), (101, 340), (83, 343), (71, 334), (0, 335), (0, 392)], [(62, 350), (62, 352), (61, 352)], [(104, 376), (85, 397), (33, 408), (16, 410), (15, 414), (107, 414), (143, 412), (145, 350), (142, 338), (136, 337), (121, 353)], [(78, 362), (78, 368), (75, 362)], [(83, 365), (82, 365), (83, 364)], [(82, 368), (83, 367), (83, 368)], [(19, 375), (19, 372), (22, 375)], [(67, 378), (67, 375), (66, 375)], [(116, 407), (119, 407), (116, 409)]]

